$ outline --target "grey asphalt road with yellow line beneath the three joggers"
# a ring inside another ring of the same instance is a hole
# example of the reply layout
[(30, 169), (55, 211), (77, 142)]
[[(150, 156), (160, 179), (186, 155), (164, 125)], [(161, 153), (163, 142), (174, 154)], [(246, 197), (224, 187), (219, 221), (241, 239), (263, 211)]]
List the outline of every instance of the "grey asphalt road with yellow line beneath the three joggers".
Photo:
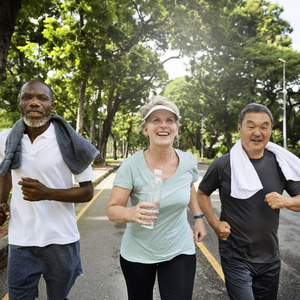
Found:
[[(200, 178), (206, 165), (199, 166)], [(109, 199), (112, 181), (111, 174), (95, 189), (95, 201), (82, 214), (78, 221), (81, 234), (81, 256), (84, 276), (79, 278), (71, 290), (70, 300), (126, 300), (125, 281), (119, 266), (119, 249), (125, 225), (116, 225), (106, 217), (106, 204)], [(218, 193), (212, 196), (215, 214), (220, 212)], [(79, 213), (85, 204), (76, 206)], [(188, 212), (190, 224), (192, 215)], [(279, 241), (282, 257), (281, 279), (278, 300), (300, 300), (300, 213), (288, 210), (281, 211)], [(208, 235), (200, 250), (197, 247), (197, 271), (193, 299), (223, 300), (229, 299), (225, 285), (217, 271), (219, 270), (219, 255), (217, 238), (209, 225)], [(213, 265), (209, 260), (212, 261)], [(0, 272), (0, 299), (7, 293), (6, 270)], [(154, 300), (159, 300), (157, 286)], [(46, 300), (45, 285), (40, 284), (39, 299)], [(141, 295), (141, 300), (143, 299)], [(242, 299), (241, 299), (242, 300)]]

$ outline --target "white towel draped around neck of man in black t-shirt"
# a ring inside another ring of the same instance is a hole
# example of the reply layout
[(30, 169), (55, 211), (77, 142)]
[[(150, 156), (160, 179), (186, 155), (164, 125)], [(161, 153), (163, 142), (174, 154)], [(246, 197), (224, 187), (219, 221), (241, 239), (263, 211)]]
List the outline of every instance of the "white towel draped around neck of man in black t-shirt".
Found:
[[(286, 180), (300, 181), (300, 159), (296, 155), (272, 142), (266, 149), (275, 154)], [(230, 167), (232, 197), (248, 199), (263, 188), (241, 140), (230, 150)]]

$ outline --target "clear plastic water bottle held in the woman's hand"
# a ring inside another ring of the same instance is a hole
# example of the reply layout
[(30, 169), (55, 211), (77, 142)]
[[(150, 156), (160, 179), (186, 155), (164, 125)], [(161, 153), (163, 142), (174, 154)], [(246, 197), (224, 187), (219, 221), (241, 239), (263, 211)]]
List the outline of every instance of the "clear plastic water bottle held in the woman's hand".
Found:
[[(154, 170), (155, 177), (153, 180), (149, 182), (149, 187), (145, 199), (145, 202), (158, 201), (158, 204), (155, 205), (154, 208), (152, 208), (155, 210), (159, 210), (160, 207), (161, 190), (163, 185), (161, 175), (162, 175), (162, 170), (157, 170), (157, 169)], [(142, 225), (142, 226), (148, 229), (153, 229), (156, 225), (156, 221), (157, 220), (150, 220), (150, 221), (147, 220), (147, 222), (151, 222), (151, 225)]]

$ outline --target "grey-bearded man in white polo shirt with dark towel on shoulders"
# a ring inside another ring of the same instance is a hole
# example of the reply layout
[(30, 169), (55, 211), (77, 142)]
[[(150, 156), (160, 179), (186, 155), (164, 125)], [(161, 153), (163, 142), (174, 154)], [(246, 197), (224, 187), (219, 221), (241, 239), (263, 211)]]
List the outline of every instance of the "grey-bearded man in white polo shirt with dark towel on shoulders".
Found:
[(91, 162), (99, 152), (52, 114), (47, 84), (25, 83), (19, 109), (22, 119), (0, 133), (0, 225), (10, 216), (9, 299), (38, 297), (41, 275), (48, 299), (66, 299), (82, 274), (74, 203), (93, 197)]

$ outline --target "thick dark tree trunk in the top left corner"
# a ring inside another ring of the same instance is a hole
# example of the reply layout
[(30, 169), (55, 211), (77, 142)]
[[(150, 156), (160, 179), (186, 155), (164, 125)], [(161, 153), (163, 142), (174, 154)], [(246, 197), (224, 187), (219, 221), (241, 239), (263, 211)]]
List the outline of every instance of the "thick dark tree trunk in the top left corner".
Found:
[(21, 3), (22, 0), (0, 1), (0, 85), (6, 79), (8, 49)]

